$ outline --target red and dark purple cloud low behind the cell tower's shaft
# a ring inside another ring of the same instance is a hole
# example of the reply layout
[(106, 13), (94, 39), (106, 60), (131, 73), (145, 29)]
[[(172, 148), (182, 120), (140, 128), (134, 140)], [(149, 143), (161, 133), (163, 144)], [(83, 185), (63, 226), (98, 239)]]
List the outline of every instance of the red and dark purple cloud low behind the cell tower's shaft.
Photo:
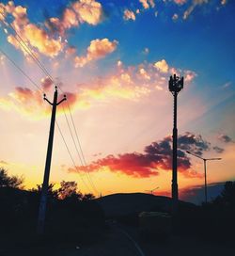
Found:
[[(188, 138), (189, 135), (195, 139)], [(207, 149), (201, 145), (201, 136), (187, 133), (180, 136), (180, 146), (178, 150), (178, 170), (186, 178), (201, 178), (202, 175), (192, 169), (190, 158), (182, 151), (185, 147), (195, 150), (196, 152)], [(186, 146), (183, 143), (185, 141)], [(209, 144), (203, 140), (204, 144)], [(160, 170), (171, 170), (172, 167), (172, 137), (165, 136), (160, 141), (152, 142), (145, 147), (144, 152), (129, 152), (115, 155), (107, 155), (101, 159), (93, 161), (86, 167), (69, 168), (70, 172), (77, 171), (102, 171), (122, 173), (133, 178), (148, 178), (159, 175)]]

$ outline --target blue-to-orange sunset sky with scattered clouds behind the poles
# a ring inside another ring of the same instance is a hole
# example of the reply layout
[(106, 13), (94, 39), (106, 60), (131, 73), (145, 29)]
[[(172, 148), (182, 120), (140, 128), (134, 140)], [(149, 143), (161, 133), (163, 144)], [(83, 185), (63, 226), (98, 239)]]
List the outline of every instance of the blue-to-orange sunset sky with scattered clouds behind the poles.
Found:
[(176, 73), (185, 81), (181, 199), (204, 183), (203, 162), (185, 151), (222, 158), (208, 162), (209, 184), (234, 181), (234, 13), (232, 0), (3, 1), (0, 167), (23, 175), (26, 188), (42, 183), (51, 115), (43, 93), (53, 101), (58, 85), (68, 101), (56, 120), (75, 166), (55, 126), (51, 183), (76, 181), (96, 196), (157, 186), (170, 195)]

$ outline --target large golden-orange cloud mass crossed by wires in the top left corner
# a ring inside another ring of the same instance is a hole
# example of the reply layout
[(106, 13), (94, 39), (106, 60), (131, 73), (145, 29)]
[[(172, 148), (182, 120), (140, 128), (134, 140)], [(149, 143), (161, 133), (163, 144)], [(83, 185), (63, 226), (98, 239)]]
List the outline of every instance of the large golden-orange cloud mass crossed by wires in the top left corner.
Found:
[[(8, 17), (13, 19), (12, 26), (34, 54), (50, 57), (58, 56), (65, 48), (63, 37), (68, 29), (83, 23), (96, 25), (102, 21), (102, 5), (95, 0), (73, 1), (64, 8), (61, 18), (48, 18), (45, 24), (39, 25), (30, 23), (27, 8), (15, 6), (13, 1), (1, 4), (0, 9), (1, 20), (6, 23)], [(19, 43), (14, 34), (8, 35), (8, 42), (22, 50), (25, 56), (29, 55), (24, 43)]]

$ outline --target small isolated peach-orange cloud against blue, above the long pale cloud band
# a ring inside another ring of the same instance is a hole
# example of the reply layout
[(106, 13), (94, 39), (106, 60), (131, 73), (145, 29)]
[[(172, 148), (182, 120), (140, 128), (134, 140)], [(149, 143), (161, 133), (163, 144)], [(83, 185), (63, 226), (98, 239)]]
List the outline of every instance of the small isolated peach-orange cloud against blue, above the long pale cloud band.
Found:
[(113, 53), (118, 46), (118, 41), (110, 41), (108, 39), (102, 40), (91, 40), (90, 45), (86, 50), (86, 56), (75, 56), (74, 65), (75, 68), (84, 67), (90, 61), (103, 58), (111, 53)]

